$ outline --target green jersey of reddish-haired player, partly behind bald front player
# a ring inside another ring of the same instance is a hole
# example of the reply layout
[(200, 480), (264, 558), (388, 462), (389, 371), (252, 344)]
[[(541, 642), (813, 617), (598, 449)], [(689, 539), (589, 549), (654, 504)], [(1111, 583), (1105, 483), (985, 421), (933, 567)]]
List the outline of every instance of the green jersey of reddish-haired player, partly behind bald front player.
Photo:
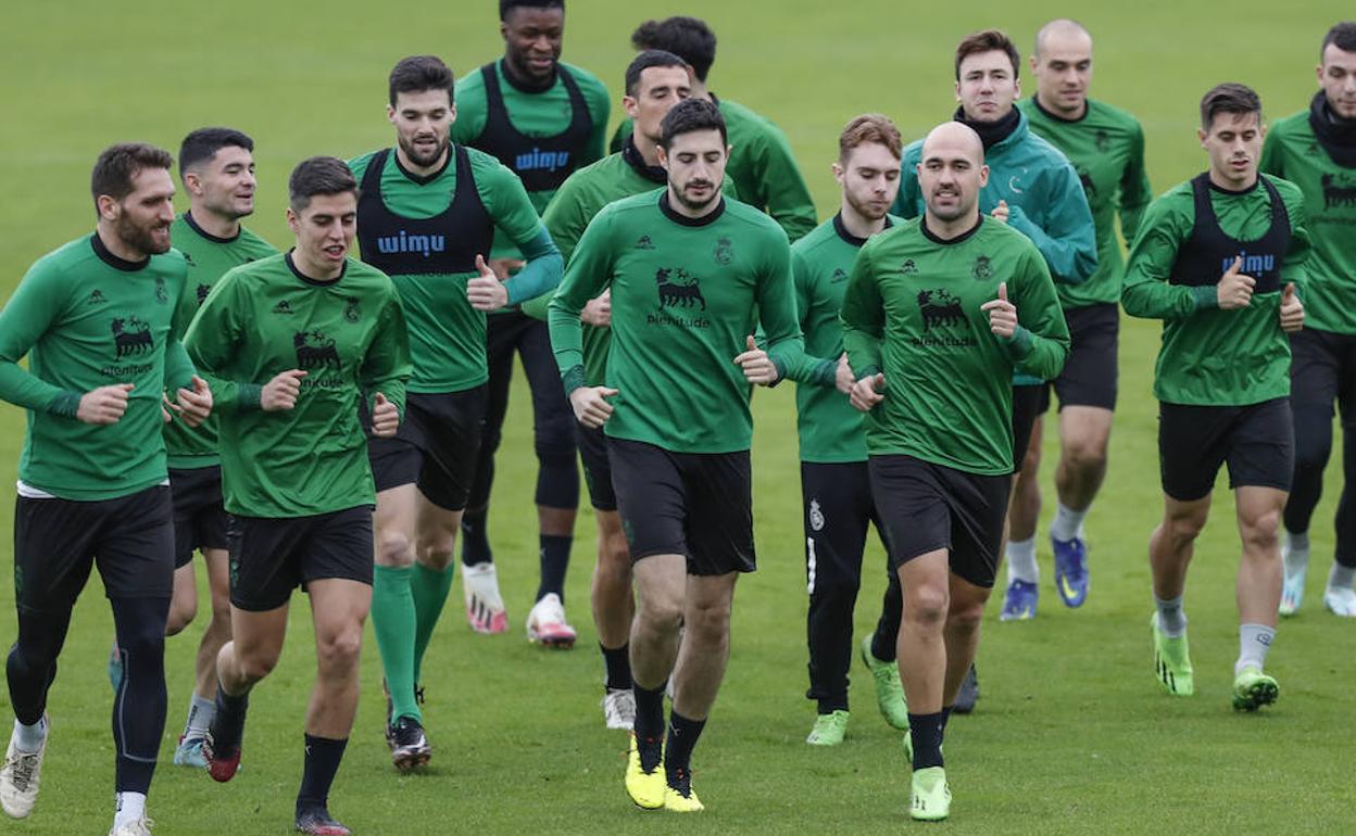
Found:
[[(885, 218), (887, 229), (899, 218)], [(866, 241), (848, 232), (834, 215), (791, 245), (791, 272), (796, 283), (796, 312), (805, 335), (812, 373), (796, 382), (796, 428), (803, 462), (864, 462), (866, 436), (862, 413), (837, 389), (843, 332), (838, 313), (857, 253)]]

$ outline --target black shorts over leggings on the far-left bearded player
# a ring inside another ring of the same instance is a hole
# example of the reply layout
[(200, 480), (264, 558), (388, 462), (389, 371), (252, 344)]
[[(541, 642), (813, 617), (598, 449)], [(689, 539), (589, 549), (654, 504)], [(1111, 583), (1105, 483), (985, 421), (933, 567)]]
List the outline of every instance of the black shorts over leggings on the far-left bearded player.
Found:
[(16, 499), (14, 592), (20, 610), (69, 612), (95, 565), (108, 598), (174, 593), (168, 485), (95, 501)]

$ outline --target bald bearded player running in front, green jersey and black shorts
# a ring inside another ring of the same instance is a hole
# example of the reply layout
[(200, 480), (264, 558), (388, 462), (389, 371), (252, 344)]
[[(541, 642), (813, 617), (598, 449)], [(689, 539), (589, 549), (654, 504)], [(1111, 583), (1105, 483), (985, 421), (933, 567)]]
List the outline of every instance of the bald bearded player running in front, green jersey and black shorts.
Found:
[[(1013, 463), (1013, 374), (1059, 374), (1069, 331), (1045, 259), (979, 211), (979, 134), (933, 129), (913, 172), (921, 218), (861, 248), (843, 294), (852, 401), (872, 500), (903, 589), (914, 818), (951, 810), (942, 732), (979, 644)], [(976, 270), (978, 264), (987, 266)]]

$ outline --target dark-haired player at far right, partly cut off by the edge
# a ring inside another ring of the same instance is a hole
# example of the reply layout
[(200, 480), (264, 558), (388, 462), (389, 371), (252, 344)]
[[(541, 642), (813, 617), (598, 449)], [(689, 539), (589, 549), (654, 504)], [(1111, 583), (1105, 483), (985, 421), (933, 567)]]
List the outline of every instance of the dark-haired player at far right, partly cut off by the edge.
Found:
[(1356, 618), (1356, 23), (1328, 30), (1309, 110), (1272, 126), (1261, 168), (1304, 192), (1313, 253), (1306, 264), (1304, 329), (1290, 337), (1295, 415), (1295, 484), (1285, 503), (1280, 614), (1304, 596), (1309, 522), (1333, 444), (1333, 401), (1341, 411), (1342, 493), (1337, 550), (1323, 589), (1329, 611)]

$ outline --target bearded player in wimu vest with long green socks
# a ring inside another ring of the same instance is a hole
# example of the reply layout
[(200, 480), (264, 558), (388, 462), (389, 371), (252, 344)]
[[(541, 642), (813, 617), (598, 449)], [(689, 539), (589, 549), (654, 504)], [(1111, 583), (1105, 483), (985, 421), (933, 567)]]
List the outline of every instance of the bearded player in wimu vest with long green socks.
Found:
[[(433, 752), (416, 694), (452, 588), (484, 424), (485, 313), (552, 290), (561, 259), (518, 177), (490, 154), (450, 141), (457, 108), (446, 64), (403, 58), (388, 93), (396, 148), (363, 154), (350, 168), (361, 184), (362, 260), (395, 282), (414, 362), (399, 434), (369, 444), (377, 485), (372, 627), (388, 692), (386, 744), (395, 767), (408, 771)], [(495, 228), (527, 257), (506, 282), (485, 262)], [(488, 607), (477, 614), (492, 618)]]

